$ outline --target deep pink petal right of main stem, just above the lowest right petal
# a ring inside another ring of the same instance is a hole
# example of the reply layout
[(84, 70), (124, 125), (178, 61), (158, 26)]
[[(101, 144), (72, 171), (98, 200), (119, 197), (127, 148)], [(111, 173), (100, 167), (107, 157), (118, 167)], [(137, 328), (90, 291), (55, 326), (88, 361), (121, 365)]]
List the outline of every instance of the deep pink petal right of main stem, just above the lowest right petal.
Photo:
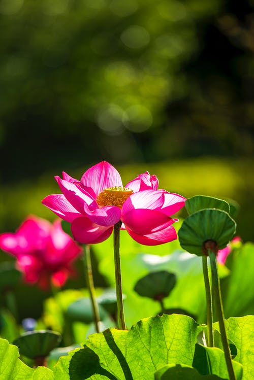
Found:
[(174, 223), (174, 220), (164, 213), (149, 209), (132, 210), (129, 213), (122, 214), (121, 220), (126, 229), (131, 229), (142, 235), (154, 232), (154, 229), (160, 229), (165, 223)]

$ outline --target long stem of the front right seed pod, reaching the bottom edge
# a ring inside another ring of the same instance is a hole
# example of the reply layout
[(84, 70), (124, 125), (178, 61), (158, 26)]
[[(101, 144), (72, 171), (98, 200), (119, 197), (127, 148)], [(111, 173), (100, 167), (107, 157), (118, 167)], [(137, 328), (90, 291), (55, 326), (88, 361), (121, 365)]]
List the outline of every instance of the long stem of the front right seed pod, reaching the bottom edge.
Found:
[(220, 330), (220, 335), (221, 335), (221, 341), (223, 343), (226, 364), (227, 364), (227, 368), (229, 372), (229, 379), (236, 380), (233, 365), (232, 365), (232, 360), (231, 360), (231, 353), (230, 353), (229, 342), (228, 342), (228, 337), (227, 337), (226, 328), (225, 328), (225, 322), (224, 322), (224, 311), (223, 311), (223, 304), (221, 302), (216, 254), (210, 249), (208, 249), (208, 253), (210, 257), (211, 271), (212, 271), (213, 299), (216, 305), (217, 316), (218, 316), (218, 321), (219, 321), (219, 330)]

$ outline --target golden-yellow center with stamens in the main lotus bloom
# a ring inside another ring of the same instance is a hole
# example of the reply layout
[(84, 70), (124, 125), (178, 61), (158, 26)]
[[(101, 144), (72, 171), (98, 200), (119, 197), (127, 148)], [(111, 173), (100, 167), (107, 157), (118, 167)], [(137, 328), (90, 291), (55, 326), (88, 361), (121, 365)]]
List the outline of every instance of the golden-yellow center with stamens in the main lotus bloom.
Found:
[(112, 186), (104, 189), (97, 195), (96, 202), (99, 207), (117, 206), (121, 209), (123, 202), (133, 193), (126, 187)]

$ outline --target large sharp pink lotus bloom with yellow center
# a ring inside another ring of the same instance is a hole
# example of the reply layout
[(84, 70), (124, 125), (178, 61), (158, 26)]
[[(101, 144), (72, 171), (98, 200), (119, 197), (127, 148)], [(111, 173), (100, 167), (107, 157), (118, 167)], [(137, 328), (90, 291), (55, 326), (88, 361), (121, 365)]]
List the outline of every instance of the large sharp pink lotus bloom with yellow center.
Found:
[(178, 220), (170, 215), (184, 206), (185, 198), (157, 190), (158, 180), (148, 171), (125, 187), (118, 171), (105, 161), (86, 170), (80, 181), (65, 172), (62, 177), (55, 177), (62, 194), (49, 195), (42, 203), (71, 223), (73, 236), (80, 243), (101, 243), (119, 221), (144, 245), (177, 238), (172, 224)]

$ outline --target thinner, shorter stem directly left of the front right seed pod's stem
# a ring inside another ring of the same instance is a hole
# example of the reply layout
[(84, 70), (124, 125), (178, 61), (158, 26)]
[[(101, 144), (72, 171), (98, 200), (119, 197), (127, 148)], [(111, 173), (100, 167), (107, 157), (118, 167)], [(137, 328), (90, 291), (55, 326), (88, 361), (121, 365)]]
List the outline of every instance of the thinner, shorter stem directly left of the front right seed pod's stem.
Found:
[(207, 314), (207, 329), (208, 329), (208, 346), (214, 347), (213, 330), (212, 330), (212, 292), (210, 279), (207, 267), (207, 256), (202, 256), (203, 274), (206, 290), (206, 314)]

